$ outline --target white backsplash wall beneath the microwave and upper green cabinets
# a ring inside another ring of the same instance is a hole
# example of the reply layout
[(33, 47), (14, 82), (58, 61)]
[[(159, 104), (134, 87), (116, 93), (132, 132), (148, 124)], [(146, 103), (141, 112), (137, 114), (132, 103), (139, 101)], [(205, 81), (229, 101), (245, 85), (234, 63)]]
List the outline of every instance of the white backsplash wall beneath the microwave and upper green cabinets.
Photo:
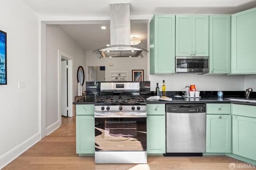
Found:
[[(165, 80), (166, 91), (182, 91), (186, 85), (196, 85), (198, 91), (244, 91), (244, 75), (197, 75), (176, 73), (150, 75), (150, 90), (155, 91), (156, 83)], [(255, 88), (256, 89), (256, 88)]]

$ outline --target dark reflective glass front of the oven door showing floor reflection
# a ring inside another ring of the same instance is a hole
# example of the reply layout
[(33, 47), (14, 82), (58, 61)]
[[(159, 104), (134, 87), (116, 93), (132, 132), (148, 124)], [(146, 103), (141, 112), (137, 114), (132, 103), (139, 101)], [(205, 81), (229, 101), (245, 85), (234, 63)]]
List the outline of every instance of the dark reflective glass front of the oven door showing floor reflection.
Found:
[[(95, 150), (146, 150), (146, 122), (130, 118), (97, 119), (99, 124), (95, 126)], [(146, 121), (146, 118), (142, 119)]]

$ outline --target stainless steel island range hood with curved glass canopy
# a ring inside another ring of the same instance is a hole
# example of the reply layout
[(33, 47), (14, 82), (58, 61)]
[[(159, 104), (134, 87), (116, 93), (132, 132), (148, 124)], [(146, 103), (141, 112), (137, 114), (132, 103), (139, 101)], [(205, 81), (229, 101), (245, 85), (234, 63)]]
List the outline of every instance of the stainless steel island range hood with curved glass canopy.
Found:
[(110, 46), (93, 53), (100, 58), (143, 57), (142, 51), (147, 50), (130, 45), (130, 3), (110, 4)]

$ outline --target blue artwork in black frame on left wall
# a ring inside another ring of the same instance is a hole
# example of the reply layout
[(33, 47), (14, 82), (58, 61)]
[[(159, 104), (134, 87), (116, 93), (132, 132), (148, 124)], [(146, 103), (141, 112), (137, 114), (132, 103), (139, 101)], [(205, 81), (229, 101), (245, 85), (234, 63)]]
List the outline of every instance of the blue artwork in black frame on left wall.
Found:
[(0, 85), (7, 85), (6, 32), (0, 30)]

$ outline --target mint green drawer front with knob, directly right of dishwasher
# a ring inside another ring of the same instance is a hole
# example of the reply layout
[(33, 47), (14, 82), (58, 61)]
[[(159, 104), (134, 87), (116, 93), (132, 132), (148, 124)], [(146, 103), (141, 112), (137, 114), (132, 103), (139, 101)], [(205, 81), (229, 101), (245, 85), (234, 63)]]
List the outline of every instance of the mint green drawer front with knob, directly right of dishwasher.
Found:
[(206, 103), (206, 114), (230, 115), (230, 103)]

